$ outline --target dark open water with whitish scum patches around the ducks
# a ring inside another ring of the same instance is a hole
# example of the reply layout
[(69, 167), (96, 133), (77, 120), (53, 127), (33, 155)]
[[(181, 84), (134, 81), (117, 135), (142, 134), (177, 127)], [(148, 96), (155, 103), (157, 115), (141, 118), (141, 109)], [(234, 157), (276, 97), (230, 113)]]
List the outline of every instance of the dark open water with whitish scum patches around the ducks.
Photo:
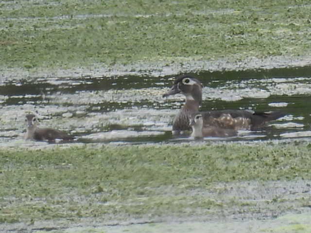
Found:
[[(193, 74), (204, 85), (202, 111), (282, 110), (287, 116), (256, 132), (221, 140), (309, 138), (311, 67)], [(179, 142), (171, 122), (184, 98), (162, 98), (173, 77), (50, 77), (0, 83), (0, 143), (21, 138), (24, 116), (72, 133), (79, 142)], [(206, 139), (220, 140), (220, 139)]]

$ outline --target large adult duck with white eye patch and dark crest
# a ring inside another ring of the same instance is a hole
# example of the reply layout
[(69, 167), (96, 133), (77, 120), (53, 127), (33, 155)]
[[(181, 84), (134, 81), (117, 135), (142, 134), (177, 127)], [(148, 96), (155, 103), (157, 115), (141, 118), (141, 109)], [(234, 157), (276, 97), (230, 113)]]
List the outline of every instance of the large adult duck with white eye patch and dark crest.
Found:
[[(199, 111), (202, 103), (203, 85), (190, 76), (176, 78), (172, 88), (163, 97), (181, 93), (186, 97), (185, 105), (173, 120), (173, 134), (191, 130), (190, 116)], [(249, 110), (213, 110), (202, 112), (203, 127), (225, 130), (254, 130), (267, 121), (285, 116), (282, 112), (254, 112)]]

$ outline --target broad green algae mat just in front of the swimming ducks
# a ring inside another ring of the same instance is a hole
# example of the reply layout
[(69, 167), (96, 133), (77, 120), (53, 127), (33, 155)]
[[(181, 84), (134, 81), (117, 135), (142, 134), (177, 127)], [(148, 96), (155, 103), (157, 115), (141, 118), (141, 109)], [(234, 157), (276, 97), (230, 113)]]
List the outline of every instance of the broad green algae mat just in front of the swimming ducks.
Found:
[[(267, 200), (254, 197), (254, 202), (248, 197), (254, 194), (231, 196), (236, 186), (230, 189), (219, 184), (240, 183), (240, 188), (247, 189), (254, 182), (310, 181), (309, 151), (306, 143), (1, 150), (0, 220), (118, 222), (152, 221), (167, 215), (211, 217), (224, 211), (256, 214), (259, 202), (267, 215), (276, 207), (280, 213), (294, 211), (310, 201), (303, 191), (294, 200), (271, 191), (274, 195)], [(277, 189), (276, 184), (272, 186)], [(267, 195), (267, 187), (257, 192)]]

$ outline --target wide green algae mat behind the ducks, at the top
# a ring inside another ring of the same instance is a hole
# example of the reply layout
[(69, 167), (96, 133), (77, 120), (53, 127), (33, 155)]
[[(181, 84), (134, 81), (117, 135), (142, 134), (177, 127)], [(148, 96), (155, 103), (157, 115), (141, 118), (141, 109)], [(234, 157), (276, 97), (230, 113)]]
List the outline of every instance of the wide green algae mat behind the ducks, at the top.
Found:
[(305, 1), (75, 0), (1, 5), (2, 67), (238, 62), (251, 57), (299, 58), (311, 50), (311, 5)]

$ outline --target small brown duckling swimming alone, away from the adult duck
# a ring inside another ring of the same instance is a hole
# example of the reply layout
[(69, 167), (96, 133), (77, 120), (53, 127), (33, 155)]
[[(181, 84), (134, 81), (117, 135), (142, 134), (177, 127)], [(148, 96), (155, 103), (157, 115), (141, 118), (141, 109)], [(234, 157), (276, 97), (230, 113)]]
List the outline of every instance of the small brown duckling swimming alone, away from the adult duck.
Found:
[(53, 130), (49, 128), (38, 128), (37, 118), (34, 114), (26, 115), (27, 131), (25, 139), (31, 139), (36, 141), (55, 141), (55, 139), (72, 140), (73, 136), (68, 135), (59, 130)]

